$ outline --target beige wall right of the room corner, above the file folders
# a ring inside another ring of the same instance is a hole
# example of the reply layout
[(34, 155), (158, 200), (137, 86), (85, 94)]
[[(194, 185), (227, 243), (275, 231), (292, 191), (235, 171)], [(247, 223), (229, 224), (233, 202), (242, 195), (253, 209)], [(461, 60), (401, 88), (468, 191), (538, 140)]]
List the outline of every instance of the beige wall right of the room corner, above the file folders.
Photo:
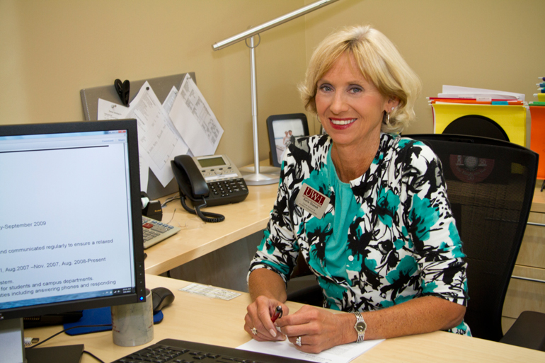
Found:
[(545, 76), (544, 0), (340, 0), (323, 10), (306, 17), (307, 54), (335, 28), (371, 24), (420, 76), (418, 120), (406, 133), (432, 132), (426, 97), (443, 84), (537, 100), (537, 77)]

